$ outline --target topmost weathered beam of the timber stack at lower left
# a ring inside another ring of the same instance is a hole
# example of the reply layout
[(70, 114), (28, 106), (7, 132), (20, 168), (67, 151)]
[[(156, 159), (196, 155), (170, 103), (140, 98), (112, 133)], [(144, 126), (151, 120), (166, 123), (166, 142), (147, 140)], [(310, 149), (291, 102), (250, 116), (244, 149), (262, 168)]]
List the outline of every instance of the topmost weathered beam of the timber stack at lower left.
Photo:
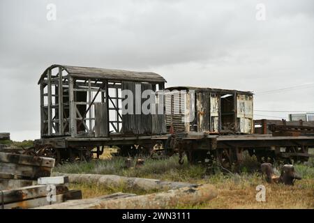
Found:
[(14, 164), (31, 165), (37, 167), (54, 167), (53, 158), (12, 153), (0, 153), (0, 162), (10, 162)]

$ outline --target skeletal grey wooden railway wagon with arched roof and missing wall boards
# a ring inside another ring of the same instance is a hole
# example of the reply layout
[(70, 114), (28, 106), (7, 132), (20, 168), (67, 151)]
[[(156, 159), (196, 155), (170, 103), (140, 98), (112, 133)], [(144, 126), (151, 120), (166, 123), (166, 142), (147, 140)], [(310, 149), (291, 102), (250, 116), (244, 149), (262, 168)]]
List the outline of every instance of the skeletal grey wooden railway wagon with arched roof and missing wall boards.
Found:
[(163, 90), (165, 82), (154, 72), (50, 66), (38, 82), (41, 139), (29, 153), (60, 162), (88, 160), (93, 148), (100, 155), (105, 145), (117, 145), (126, 152), (134, 145), (151, 148), (150, 136), (165, 134), (164, 114), (124, 114), (121, 94), (129, 90), (141, 97), (144, 90)]

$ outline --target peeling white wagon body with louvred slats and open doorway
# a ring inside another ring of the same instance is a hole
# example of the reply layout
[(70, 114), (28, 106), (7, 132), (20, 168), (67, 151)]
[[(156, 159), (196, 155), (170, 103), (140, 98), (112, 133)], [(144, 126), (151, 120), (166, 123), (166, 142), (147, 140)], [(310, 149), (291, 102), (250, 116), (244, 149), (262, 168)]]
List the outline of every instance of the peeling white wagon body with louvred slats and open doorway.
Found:
[(165, 95), (167, 130), (211, 134), (252, 134), (253, 93), (171, 87)]

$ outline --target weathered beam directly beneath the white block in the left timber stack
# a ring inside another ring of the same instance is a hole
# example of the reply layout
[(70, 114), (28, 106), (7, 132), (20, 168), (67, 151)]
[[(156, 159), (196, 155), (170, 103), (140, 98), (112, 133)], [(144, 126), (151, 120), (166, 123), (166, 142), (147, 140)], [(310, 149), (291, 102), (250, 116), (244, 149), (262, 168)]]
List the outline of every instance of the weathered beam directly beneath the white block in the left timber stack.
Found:
[[(67, 191), (68, 188), (66, 186), (56, 185), (57, 194), (64, 194)], [(13, 203), (38, 197), (46, 197), (47, 193), (48, 191), (46, 185), (34, 185), (29, 187), (20, 187), (15, 190), (2, 190), (0, 197), (1, 202), (3, 201), (3, 203)]]

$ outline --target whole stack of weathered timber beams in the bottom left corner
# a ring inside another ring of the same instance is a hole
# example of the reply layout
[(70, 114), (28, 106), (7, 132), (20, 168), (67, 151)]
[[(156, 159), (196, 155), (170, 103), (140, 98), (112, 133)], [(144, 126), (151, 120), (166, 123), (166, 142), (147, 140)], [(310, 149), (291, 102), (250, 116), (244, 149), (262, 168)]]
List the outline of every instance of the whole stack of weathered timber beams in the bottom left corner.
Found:
[(0, 208), (36, 208), (70, 199), (82, 199), (80, 190), (68, 190), (68, 178), (50, 177), (54, 159), (0, 153)]

